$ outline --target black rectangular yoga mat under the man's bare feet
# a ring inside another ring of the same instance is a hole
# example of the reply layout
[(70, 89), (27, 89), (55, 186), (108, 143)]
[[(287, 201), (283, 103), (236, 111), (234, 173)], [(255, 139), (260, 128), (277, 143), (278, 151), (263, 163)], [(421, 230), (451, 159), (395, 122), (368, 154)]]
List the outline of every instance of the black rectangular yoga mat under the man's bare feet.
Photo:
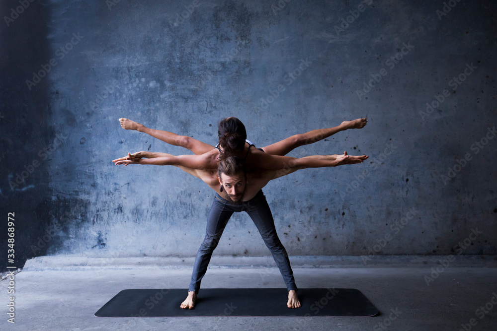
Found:
[(284, 288), (201, 289), (195, 309), (179, 306), (186, 289), (122, 290), (96, 313), (98, 317), (188, 316), (374, 316), (378, 310), (359, 291), (350, 288), (301, 288), (302, 306), (286, 307)]

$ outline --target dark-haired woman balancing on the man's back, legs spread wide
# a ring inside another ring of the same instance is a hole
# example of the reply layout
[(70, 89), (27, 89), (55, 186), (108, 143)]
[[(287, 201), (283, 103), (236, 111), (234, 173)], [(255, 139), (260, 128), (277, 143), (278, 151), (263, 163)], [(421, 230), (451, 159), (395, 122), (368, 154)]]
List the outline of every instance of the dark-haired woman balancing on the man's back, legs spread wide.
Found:
[[(186, 135), (149, 129), (144, 125), (129, 119), (120, 118), (119, 121), (123, 129), (145, 132), (168, 144), (181, 146), (195, 153), (195, 155), (179, 156), (172, 156), (169, 154), (168, 158), (161, 160), (161, 162), (166, 162), (165, 165), (179, 165), (199, 170), (216, 170), (220, 160), (234, 155), (245, 160), (248, 171), (261, 169), (280, 170), (295, 165), (301, 165), (306, 168), (329, 166), (329, 163), (323, 162), (323, 160), (320, 160), (319, 158), (307, 158), (304, 160), (286, 157), (284, 155), (296, 147), (317, 142), (336, 132), (348, 129), (361, 129), (367, 123), (367, 119), (365, 118), (354, 121), (344, 121), (337, 127), (295, 134), (274, 144), (257, 149), (250, 148), (253, 144), (246, 140), (247, 132), (245, 126), (235, 117), (226, 118), (219, 123), (219, 143), (216, 147)], [(143, 152), (138, 152), (132, 154), (131, 157), (144, 157), (144, 154)], [(159, 160), (155, 160), (155, 162), (157, 161)]]

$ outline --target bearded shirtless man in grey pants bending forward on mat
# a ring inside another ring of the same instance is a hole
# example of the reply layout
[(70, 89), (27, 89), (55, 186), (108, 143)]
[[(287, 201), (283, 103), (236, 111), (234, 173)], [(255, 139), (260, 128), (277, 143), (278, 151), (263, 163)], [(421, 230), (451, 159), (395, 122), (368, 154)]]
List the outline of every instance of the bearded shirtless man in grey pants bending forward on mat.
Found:
[(302, 159), (286, 159), (284, 169), (259, 170), (247, 172), (245, 163), (237, 156), (230, 156), (221, 161), (218, 171), (208, 169), (192, 169), (174, 164), (173, 155), (166, 153), (138, 152), (127, 157), (113, 160), (116, 165), (124, 164), (155, 164), (175, 165), (191, 175), (202, 179), (214, 191), (216, 196), (207, 219), (207, 228), (204, 241), (198, 250), (193, 267), (192, 278), (188, 289), (188, 297), (181, 304), (181, 308), (193, 309), (200, 288), (200, 282), (209, 264), (212, 252), (216, 248), (224, 231), (226, 223), (233, 212), (246, 211), (255, 223), (264, 243), (271, 251), (278, 265), (288, 289), (288, 308), (300, 307), (297, 296), (297, 286), (290, 267), (285, 248), (276, 234), (274, 220), (262, 188), (273, 179), (290, 174), (298, 169), (307, 167), (333, 167), (343, 164), (362, 163), (368, 156), (343, 155), (316, 155), (302, 159), (316, 159), (319, 163), (301, 162)]

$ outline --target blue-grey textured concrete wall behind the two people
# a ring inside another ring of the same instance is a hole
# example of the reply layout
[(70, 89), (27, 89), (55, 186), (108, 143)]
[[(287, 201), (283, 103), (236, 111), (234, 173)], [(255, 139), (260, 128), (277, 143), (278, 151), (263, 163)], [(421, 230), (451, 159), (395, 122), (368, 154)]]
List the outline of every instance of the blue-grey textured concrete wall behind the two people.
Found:
[[(18, 5), (2, 2), (2, 16)], [(128, 151), (188, 152), (117, 119), (215, 144), (228, 116), (257, 146), (369, 119), (290, 154), (367, 162), (264, 189), (291, 255), (496, 254), (495, 12), (466, 0), (31, 3), (0, 28), (1, 194), (19, 254), (195, 255), (212, 190), (175, 167), (113, 166)], [(240, 214), (216, 254), (268, 251)]]

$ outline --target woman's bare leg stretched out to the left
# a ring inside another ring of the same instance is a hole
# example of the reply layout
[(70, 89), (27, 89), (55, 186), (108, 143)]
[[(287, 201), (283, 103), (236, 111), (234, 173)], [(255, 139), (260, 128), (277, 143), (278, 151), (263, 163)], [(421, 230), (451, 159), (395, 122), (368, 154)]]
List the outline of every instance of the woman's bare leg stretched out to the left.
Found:
[(136, 130), (138, 132), (147, 133), (153, 136), (154, 138), (167, 142), (170, 145), (180, 146), (189, 149), (197, 155), (204, 154), (214, 148), (214, 146), (212, 145), (209, 145), (205, 142), (194, 139), (187, 135), (179, 135), (168, 131), (150, 129), (144, 126), (143, 124), (131, 121), (129, 119), (120, 118), (119, 122), (121, 122), (121, 127), (123, 129)]

